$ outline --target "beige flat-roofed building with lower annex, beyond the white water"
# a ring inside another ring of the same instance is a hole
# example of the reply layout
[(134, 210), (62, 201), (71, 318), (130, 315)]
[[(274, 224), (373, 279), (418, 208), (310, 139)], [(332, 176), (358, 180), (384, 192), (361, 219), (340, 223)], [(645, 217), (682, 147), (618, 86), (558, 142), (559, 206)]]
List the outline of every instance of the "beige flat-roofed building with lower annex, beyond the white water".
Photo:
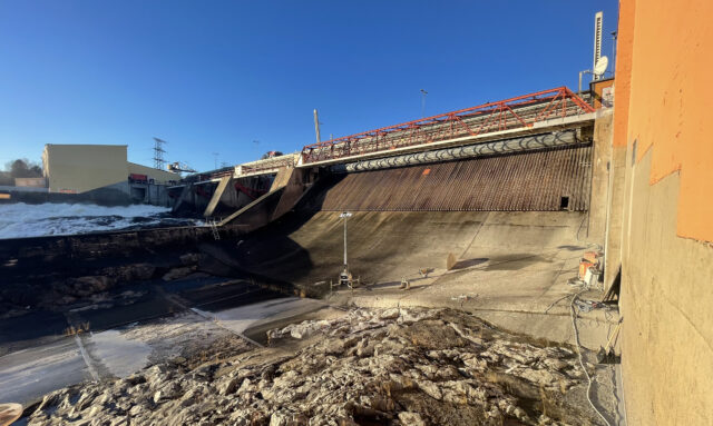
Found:
[(127, 160), (126, 145), (52, 145), (42, 152), (48, 192), (100, 196), (117, 202), (168, 205), (166, 186), (180, 175)]

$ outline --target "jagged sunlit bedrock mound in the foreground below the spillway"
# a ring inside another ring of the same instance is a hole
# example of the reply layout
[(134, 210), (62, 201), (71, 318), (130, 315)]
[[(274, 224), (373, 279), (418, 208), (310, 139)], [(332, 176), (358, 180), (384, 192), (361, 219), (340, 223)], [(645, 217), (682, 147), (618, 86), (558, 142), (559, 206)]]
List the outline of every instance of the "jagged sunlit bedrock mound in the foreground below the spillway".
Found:
[[(455, 310), (354, 309), (270, 346), (47, 395), (29, 425), (598, 425), (574, 350)], [(593, 368), (592, 365), (589, 365)]]

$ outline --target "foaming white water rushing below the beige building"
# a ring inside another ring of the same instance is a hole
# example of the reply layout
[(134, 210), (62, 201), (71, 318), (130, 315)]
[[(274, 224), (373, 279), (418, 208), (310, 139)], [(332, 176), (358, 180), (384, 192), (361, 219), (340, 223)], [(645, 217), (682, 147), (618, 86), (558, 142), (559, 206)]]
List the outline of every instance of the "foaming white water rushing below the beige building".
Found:
[(148, 205), (0, 205), (0, 239), (201, 224), (199, 220), (173, 218), (169, 212), (169, 208)]

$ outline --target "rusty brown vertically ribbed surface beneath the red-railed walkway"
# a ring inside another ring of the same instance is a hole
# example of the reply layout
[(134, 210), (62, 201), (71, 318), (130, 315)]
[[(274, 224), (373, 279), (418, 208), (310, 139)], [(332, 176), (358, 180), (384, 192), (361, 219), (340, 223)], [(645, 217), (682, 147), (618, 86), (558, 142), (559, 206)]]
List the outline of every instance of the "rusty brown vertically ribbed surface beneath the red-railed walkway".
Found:
[[(592, 146), (349, 174), (318, 196), (322, 210), (560, 210), (589, 207)], [(427, 171), (428, 170), (428, 171)]]

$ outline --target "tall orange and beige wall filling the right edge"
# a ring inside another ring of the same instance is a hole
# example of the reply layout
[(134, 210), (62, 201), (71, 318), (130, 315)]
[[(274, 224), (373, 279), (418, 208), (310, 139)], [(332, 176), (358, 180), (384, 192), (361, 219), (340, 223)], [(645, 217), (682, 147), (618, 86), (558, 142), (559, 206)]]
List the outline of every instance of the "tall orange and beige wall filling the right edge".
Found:
[[(713, 424), (713, 2), (622, 1), (609, 255), (628, 425)], [(618, 217), (615, 216), (618, 214)], [(616, 237), (618, 235), (618, 237)]]

